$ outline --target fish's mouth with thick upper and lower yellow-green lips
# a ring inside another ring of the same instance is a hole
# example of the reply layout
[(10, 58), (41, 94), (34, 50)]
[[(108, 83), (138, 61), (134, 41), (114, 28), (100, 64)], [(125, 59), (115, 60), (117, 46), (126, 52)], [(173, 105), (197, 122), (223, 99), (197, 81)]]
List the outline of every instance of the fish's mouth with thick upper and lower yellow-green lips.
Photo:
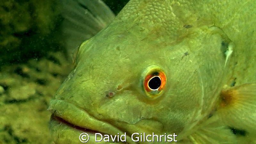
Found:
[[(56, 131), (59, 131), (59, 129), (63, 130), (64, 128), (67, 128), (67, 127), (68, 129), (72, 130), (72, 132), (76, 133), (74, 134), (71, 132), (74, 135), (75, 140), (76, 140), (76, 137), (77, 138), (79, 137), (78, 134), (81, 134), (83, 132), (86, 132), (89, 135), (89, 137), (91, 136), (95, 137), (95, 133), (100, 133), (102, 134), (103, 138), (105, 134), (113, 135), (113, 136), (117, 134), (119, 134), (119, 136), (125, 134), (123, 131), (119, 130), (114, 125), (94, 118), (83, 109), (78, 108), (72, 103), (69, 103), (65, 100), (56, 100), (56, 99), (51, 100), (48, 110), (50, 110), (52, 113), (52, 116), (51, 116), (52, 124), (50, 124), (51, 131), (53, 131), (53, 133), (55, 132), (57, 135), (59, 135), (60, 132), (56, 132)], [(62, 127), (60, 127), (60, 125)], [(61, 132), (65, 133), (65, 131), (61, 131)], [(58, 136), (58, 139), (59, 139), (59, 136)], [(90, 140), (90, 141), (91, 141), (90, 143), (93, 143), (93, 140)], [(97, 142), (94, 140), (94, 143), (97, 143)], [(127, 134), (126, 134), (126, 143), (135, 144), (135, 142), (132, 141), (132, 138)]]

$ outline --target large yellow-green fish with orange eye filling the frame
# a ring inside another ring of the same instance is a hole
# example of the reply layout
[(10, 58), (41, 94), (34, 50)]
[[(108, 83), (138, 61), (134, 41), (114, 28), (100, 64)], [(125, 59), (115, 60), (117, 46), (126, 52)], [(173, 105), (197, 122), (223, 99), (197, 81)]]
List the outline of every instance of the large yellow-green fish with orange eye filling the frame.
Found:
[(101, 143), (168, 142), (152, 133), (186, 144), (255, 143), (255, 13), (252, 0), (130, 0), (73, 46), (74, 69), (48, 108), (54, 142), (81, 143), (85, 132), (89, 143), (99, 133), (126, 136)]

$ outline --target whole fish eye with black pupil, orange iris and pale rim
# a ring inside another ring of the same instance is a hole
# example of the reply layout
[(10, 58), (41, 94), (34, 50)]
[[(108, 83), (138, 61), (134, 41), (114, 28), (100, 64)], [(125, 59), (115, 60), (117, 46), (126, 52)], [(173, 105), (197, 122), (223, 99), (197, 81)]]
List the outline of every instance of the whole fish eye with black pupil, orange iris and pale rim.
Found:
[(143, 88), (149, 98), (157, 98), (163, 91), (166, 84), (164, 71), (158, 66), (151, 65), (143, 73)]

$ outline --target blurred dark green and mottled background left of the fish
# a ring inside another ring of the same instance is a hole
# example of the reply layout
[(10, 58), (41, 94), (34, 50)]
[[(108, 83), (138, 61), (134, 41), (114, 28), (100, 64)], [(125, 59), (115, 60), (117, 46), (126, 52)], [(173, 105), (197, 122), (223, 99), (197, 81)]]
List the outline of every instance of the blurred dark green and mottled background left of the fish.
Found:
[[(117, 14), (129, 0), (103, 0)], [(53, 143), (49, 101), (72, 69), (59, 0), (0, 2), (0, 144)]]

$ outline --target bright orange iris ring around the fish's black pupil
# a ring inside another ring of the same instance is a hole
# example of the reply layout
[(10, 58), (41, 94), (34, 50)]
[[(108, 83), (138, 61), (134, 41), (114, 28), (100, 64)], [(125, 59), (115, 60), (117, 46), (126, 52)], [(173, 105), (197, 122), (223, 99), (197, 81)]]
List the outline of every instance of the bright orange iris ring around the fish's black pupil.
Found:
[[(156, 89), (152, 89), (149, 86), (149, 82), (150, 82), (150, 80), (152, 80), (155, 77), (158, 77), (160, 79), (161, 84)], [(166, 84), (166, 76), (165, 76), (164, 72), (162, 72), (162, 71), (160, 71), (160, 72), (153, 72), (153, 73), (148, 74), (145, 77), (144, 83), (143, 83), (146, 92), (154, 92), (156, 94), (158, 94), (159, 92), (161, 92), (161, 90), (163, 90), (165, 84)]]

